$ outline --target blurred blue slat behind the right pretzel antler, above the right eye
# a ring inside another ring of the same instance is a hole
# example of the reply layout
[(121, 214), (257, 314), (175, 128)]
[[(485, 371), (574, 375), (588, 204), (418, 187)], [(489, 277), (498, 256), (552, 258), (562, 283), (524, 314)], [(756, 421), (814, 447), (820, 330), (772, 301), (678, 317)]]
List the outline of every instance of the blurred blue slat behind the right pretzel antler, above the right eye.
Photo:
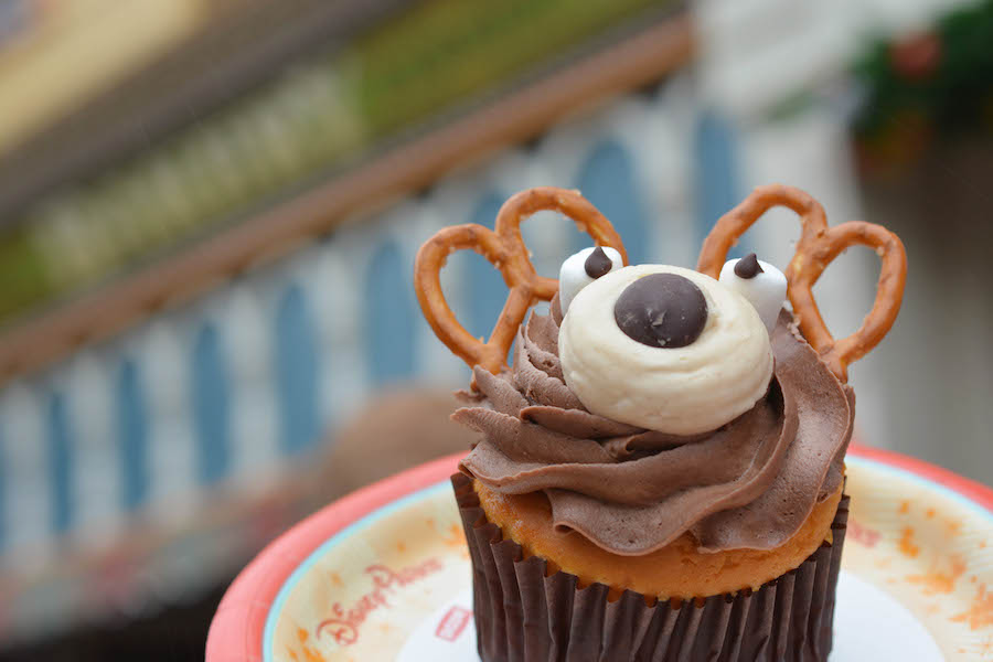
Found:
[[(715, 111), (704, 113), (696, 124), (693, 150), (695, 225), (697, 245), (703, 245), (717, 220), (741, 200), (734, 127)], [(745, 248), (740, 243), (728, 255), (740, 257)]]

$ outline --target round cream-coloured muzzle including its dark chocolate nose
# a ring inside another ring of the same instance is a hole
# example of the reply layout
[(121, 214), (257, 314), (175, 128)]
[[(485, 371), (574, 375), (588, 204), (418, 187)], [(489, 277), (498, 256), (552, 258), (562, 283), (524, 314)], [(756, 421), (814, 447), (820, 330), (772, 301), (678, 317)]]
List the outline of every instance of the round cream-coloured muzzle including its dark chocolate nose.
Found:
[[(784, 300), (783, 286), (779, 308)], [(566, 385), (590, 413), (671, 435), (730, 423), (772, 376), (756, 307), (709, 276), (668, 265), (615, 269), (576, 292), (558, 351)]]

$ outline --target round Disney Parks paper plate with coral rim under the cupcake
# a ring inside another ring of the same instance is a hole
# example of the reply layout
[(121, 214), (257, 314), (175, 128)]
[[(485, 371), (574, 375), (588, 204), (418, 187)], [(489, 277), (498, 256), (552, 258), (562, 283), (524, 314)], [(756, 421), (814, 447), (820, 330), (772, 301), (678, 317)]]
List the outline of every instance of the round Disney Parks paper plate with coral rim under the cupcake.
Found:
[[(207, 662), (476, 662), (458, 456), (329, 505), (232, 584)], [(993, 661), (993, 490), (853, 448), (832, 662)]]

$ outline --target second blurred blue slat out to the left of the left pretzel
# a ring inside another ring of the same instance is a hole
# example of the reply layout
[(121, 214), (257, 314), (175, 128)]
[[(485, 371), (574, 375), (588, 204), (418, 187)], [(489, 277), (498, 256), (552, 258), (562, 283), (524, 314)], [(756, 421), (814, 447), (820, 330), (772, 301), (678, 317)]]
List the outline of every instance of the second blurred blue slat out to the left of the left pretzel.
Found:
[(320, 434), (318, 352), (312, 317), (299, 286), (282, 297), (276, 317), (276, 381), (287, 453), (312, 446)]

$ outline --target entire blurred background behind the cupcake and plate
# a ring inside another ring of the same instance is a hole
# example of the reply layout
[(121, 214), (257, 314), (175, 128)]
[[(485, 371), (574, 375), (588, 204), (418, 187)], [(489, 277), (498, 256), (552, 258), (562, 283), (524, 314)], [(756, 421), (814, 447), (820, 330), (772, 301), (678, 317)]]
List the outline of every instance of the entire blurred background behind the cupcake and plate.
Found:
[[(692, 266), (769, 182), (906, 244), (857, 440), (993, 483), (991, 1), (0, 0), (0, 659), (202, 659), (267, 542), (465, 449), (410, 285), (441, 226), (576, 188)], [(835, 335), (877, 276), (825, 274)], [(499, 274), (442, 281), (488, 334)]]

